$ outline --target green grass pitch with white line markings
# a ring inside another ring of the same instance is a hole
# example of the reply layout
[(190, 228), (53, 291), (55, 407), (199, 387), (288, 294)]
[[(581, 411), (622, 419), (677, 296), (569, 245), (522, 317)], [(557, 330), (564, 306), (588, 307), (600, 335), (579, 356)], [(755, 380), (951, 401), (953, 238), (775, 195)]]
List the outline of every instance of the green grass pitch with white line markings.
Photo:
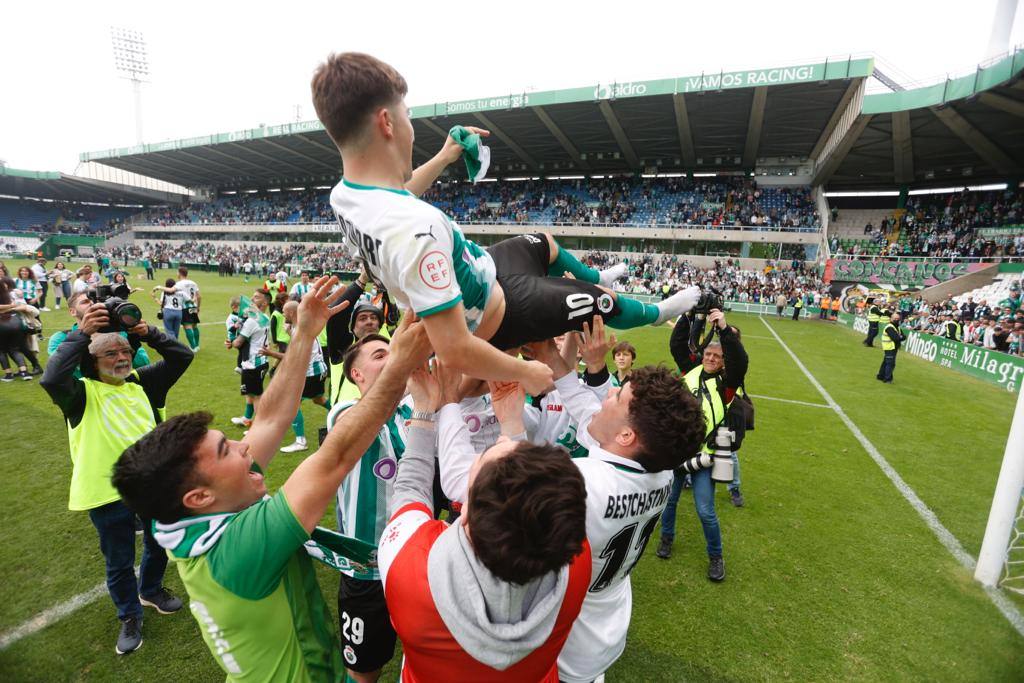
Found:
[[(10, 265), (10, 263), (8, 263)], [(158, 281), (169, 276), (158, 272)], [(255, 282), (194, 273), (203, 319), (220, 323), (233, 294)], [(146, 288), (150, 283), (132, 283)], [(156, 304), (133, 299), (156, 323)], [(50, 297), (52, 306), (52, 294)], [(874, 380), (881, 351), (842, 327), (766, 316), (882, 455), (977, 555), (1010, 427), (1014, 396), (978, 380), (901, 354), (896, 382)], [(67, 310), (44, 313), (44, 334), (71, 325)], [(751, 355), (754, 394), (824, 403), (755, 315), (732, 315)], [(204, 325), (202, 350), (171, 392), (170, 414), (204, 409), (239, 438), (228, 419), (243, 400), (222, 325)], [(627, 332), (638, 362), (669, 361), (667, 329)], [(183, 337), (183, 335), (182, 335)], [(933, 536), (828, 409), (755, 399), (757, 430), (740, 452), (746, 507), (718, 493), (728, 578), (705, 578), (703, 538), (683, 493), (675, 553), (633, 573), (633, 614), (623, 657), (608, 681), (1024, 679), (1024, 638)], [(304, 404), (307, 434), (323, 409)], [(0, 632), (87, 592), (103, 580), (96, 533), (67, 509), (71, 462), (57, 409), (38, 382), (0, 385)], [(290, 436), (287, 436), (290, 442)], [(275, 489), (302, 458), (270, 467)], [(325, 523), (333, 523), (333, 510)], [(655, 538), (656, 541), (656, 538)], [(334, 608), (337, 577), (322, 586)], [(176, 571), (167, 585), (183, 596)], [(1016, 604), (1024, 605), (1017, 601)], [(624, 618), (627, 615), (624, 615)], [(72, 611), (0, 651), (5, 681), (212, 681), (223, 677), (183, 610), (145, 612), (144, 644), (114, 653), (117, 620), (109, 597)], [(398, 658), (382, 680), (396, 680)]]

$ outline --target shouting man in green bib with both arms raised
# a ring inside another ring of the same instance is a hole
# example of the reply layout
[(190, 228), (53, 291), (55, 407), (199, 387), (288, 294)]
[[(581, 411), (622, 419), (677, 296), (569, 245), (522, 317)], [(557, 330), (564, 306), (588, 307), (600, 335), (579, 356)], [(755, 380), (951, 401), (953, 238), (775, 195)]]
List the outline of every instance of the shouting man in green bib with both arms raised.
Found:
[(270, 408), (256, 414), (242, 440), (209, 429), (207, 413), (179, 415), (125, 451), (115, 467), (125, 502), (156, 520), (157, 540), (171, 554), (228, 681), (344, 677), (311, 563), (324, 553), (316, 523), (430, 348), (422, 324), (403, 322), (374, 387), (268, 496), (263, 473), (298, 410), (312, 342), (344, 308), (328, 305), (336, 282), (322, 278), (303, 297), (292, 343), (264, 394)]

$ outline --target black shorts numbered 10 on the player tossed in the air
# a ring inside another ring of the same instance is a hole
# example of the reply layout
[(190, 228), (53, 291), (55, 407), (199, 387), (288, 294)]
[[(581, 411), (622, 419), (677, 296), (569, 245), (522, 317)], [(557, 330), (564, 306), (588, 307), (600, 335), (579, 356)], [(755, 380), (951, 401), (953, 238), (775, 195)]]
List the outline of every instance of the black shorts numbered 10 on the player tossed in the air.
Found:
[(551, 246), (543, 233), (503, 240), (487, 252), (505, 292), (505, 316), (488, 341), (502, 350), (579, 332), (594, 315), (607, 319), (618, 312), (614, 298), (597, 285), (548, 275)]

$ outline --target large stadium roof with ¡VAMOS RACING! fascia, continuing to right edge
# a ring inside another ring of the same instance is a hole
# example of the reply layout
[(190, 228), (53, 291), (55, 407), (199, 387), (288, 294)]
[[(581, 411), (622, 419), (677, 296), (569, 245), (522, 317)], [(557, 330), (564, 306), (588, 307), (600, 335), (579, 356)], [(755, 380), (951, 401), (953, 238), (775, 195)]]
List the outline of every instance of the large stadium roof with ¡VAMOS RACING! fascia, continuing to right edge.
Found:
[[(488, 175), (497, 177), (753, 172), (788, 161), (812, 166), (815, 183), (830, 188), (965, 173), (972, 181), (1006, 179), (1024, 168), (1022, 68), (1024, 52), (1016, 52), (962, 79), (865, 95), (867, 79), (884, 77), (872, 59), (844, 58), (414, 106), (414, 163), (461, 123), (492, 131)], [(318, 121), (84, 153), (81, 160), (221, 189), (332, 184), (341, 172)]]

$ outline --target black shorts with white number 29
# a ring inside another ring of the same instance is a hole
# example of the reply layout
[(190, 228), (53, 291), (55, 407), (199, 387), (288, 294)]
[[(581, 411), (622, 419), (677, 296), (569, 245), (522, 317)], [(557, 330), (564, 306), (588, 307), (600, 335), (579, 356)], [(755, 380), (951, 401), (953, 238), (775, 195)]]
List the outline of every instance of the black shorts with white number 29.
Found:
[(352, 671), (367, 674), (391, 660), (397, 635), (384, 600), (383, 583), (341, 574), (338, 633), (341, 658)]

